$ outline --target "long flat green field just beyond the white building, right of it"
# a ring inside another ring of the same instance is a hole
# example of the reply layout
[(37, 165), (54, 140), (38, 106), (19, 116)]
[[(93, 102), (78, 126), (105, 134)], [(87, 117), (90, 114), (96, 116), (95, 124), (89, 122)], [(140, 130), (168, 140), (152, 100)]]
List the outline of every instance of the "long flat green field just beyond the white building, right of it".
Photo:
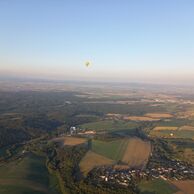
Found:
[(132, 121), (104, 120), (104, 121), (86, 123), (81, 125), (80, 127), (83, 129), (95, 130), (95, 131), (117, 131), (117, 130), (133, 129), (137, 127), (137, 124)]

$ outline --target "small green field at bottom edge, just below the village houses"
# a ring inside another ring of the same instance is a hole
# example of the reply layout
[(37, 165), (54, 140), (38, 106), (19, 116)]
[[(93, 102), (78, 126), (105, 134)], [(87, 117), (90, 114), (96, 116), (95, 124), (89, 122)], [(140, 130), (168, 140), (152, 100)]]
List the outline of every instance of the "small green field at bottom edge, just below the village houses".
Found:
[(139, 184), (141, 194), (174, 194), (178, 189), (162, 179), (142, 181)]

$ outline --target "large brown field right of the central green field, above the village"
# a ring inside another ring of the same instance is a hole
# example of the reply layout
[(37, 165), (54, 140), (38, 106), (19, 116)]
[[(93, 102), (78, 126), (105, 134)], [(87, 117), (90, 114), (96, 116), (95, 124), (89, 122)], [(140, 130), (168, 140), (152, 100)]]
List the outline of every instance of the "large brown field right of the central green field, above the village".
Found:
[(139, 138), (132, 138), (128, 141), (122, 161), (131, 167), (143, 167), (147, 164), (150, 153), (150, 142), (142, 141)]

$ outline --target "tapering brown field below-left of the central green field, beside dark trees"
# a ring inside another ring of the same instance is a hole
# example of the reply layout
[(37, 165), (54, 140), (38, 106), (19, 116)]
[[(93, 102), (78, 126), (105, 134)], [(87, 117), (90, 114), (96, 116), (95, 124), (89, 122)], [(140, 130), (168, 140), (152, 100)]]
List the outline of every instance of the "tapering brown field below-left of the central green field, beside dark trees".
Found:
[(80, 169), (84, 175), (87, 175), (96, 166), (111, 165), (114, 161), (102, 155), (88, 151), (80, 162)]

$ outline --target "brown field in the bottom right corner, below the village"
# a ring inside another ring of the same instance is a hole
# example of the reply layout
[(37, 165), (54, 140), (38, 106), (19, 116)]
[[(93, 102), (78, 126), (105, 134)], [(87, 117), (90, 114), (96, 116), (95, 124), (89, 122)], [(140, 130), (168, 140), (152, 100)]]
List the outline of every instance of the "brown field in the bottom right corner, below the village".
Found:
[(180, 189), (182, 194), (193, 194), (194, 192), (194, 181), (173, 181), (172, 184)]

